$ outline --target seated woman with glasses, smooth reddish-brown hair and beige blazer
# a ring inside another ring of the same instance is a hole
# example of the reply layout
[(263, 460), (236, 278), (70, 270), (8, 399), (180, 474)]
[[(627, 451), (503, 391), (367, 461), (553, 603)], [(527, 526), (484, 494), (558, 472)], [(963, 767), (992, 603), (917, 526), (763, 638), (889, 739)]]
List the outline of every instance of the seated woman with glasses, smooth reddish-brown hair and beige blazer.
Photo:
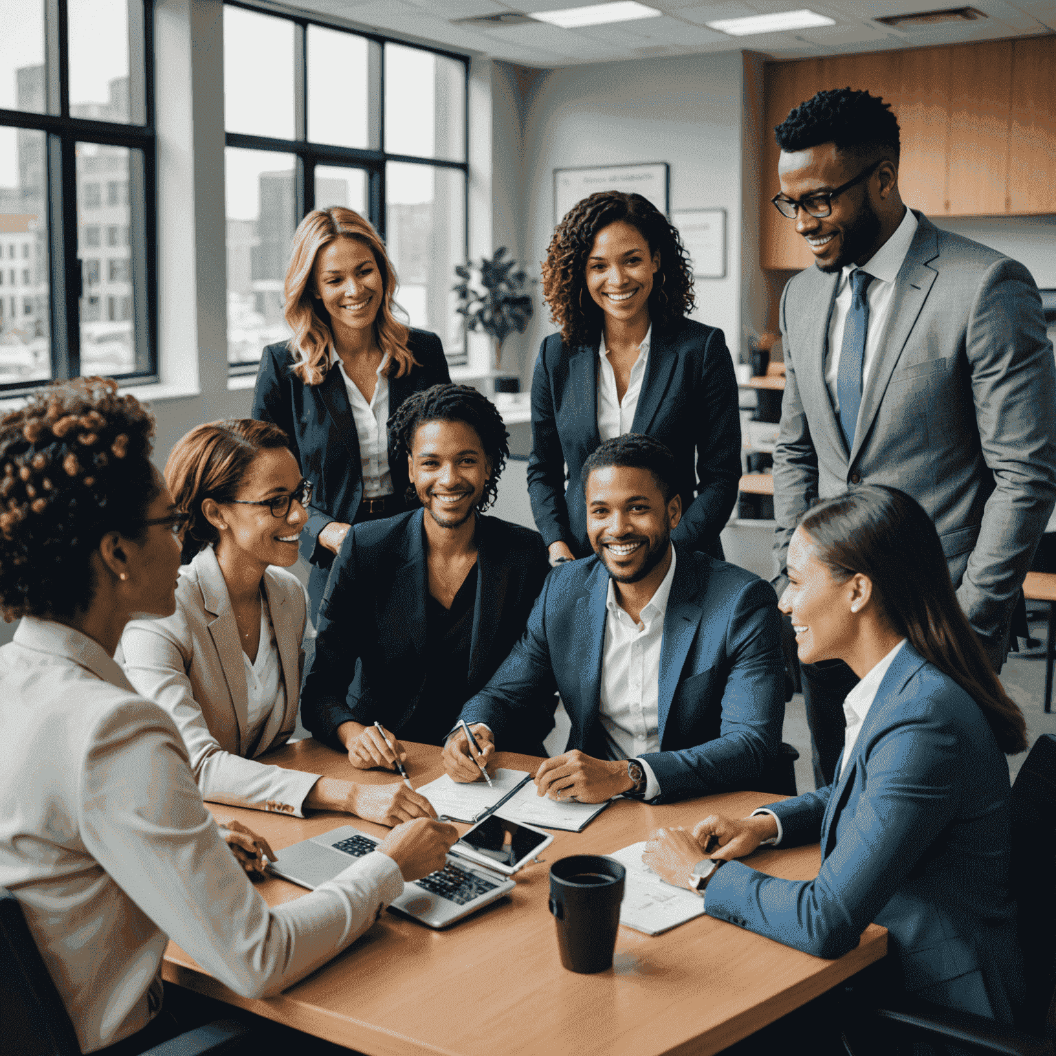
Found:
[(298, 817), (340, 810), (381, 825), (435, 817), (403, 785), (359, 785), (262, 760), (297, 724), (304, 588), (286, 571), (308, 520), (302, 479), (278, 426), (242, 419), (191, 430), (165, 479), (187, 526), (176, 610), (134, 620), (125, 674), (180, 730), (204, 799)]

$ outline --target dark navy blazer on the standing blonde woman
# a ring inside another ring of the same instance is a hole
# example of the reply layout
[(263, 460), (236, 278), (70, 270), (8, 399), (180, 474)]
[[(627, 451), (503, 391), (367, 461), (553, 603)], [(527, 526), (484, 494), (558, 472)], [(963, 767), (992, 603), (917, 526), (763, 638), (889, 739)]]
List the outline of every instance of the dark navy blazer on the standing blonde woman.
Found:
[[(435, 334), (412, 329), (407, 343), (418, 362), (401, 378), (389, 377), (389, 413), (413, 392), (451, 380), (444, 346)], [(319, 605), (334, 554), (318, 542), (332, 521), (352, 524), (363, 497), (362, 456), (352, 404), (338, 370), (328, 370), (318, 385), (306, 385), (294, 374), (297, 356), (286, 342), (269, 344), (261, 355), (253, 390), (252, 416), (274, 421), (289, 437), (301, 472), (312, 482), (308, 522), (301, 532), (301, 557), (312, 566), (308, 595), (312, 612)], [(393, 491), (402, 497), (407, 465), (397, 466), (389, 448)]]

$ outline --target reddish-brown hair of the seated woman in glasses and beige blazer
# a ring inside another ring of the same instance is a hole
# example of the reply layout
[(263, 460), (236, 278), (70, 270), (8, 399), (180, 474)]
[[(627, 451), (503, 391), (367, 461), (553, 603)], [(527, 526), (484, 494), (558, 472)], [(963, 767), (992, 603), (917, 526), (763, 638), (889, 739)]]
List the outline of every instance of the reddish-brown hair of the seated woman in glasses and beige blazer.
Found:
[(253, 459), (262, 451), (289, 450), (289, 437), (270, 421), (229, 418), (195, 426), (176, 441), (165, 464), (165, 483), (176, 508), (188, 513), (181, 563), (212, 546), (220, 532), (202, 513), (202, 501), (229, 503), (239, 493)]

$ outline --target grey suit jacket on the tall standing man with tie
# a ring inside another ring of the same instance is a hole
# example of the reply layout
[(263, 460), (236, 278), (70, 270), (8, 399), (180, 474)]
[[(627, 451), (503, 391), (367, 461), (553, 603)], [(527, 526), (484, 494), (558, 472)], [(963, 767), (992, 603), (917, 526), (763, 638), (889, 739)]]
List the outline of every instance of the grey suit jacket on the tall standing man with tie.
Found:
[(837, 275), (816, 267), (781, 296), (787, 367), (774, 452), (776, 570), (814, 498), (901, 488), (935, 522), (957, 596), (992, 657), (1056, 504), (1056, 369), (1022, 264), (922, 213), (844, 444), (825, 383)]

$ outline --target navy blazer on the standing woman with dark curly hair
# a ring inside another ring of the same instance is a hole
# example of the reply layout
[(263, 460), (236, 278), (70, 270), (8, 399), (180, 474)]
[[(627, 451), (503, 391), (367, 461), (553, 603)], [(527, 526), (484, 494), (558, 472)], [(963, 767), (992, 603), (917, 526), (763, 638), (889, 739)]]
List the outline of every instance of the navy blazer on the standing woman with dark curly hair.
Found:
[[(562, 540), (577, 557), (589, 557), (580, 474), (601, 445), (598, 345), (570, 350), (560, 334), (544, 339), (532, 375), (531, 426), (528, 495), (535, 527), (547, 546)], [(675, 455), (682, 497), (675, 542), (721, 554), (719, 532), (730, 520), (740, 480), (737, 379), (722, 331), (693, 319), (666, 331), (653, 327), (630, 432), (648, 434)]]

